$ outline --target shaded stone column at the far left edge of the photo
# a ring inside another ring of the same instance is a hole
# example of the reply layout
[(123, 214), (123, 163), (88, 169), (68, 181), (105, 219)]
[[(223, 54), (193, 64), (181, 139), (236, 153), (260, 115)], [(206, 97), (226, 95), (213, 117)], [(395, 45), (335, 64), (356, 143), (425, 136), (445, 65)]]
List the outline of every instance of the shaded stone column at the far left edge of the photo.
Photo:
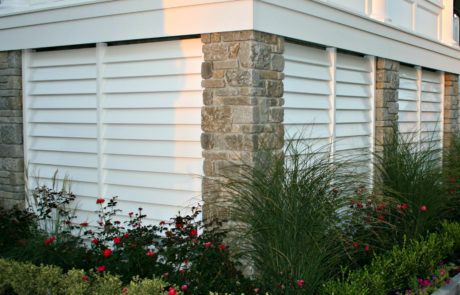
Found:
[(0, 52), (0, 206), (24, 204), (21, 51)]

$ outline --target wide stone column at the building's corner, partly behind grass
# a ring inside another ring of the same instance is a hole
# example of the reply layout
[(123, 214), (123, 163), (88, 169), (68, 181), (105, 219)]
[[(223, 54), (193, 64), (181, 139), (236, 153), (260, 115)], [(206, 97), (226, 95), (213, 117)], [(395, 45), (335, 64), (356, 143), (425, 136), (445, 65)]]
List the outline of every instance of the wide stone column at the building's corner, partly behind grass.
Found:
[(225, 221), (222, 181), (238, 175), (238, 164), (253, 165), (262, 149), (283, 148), (284, 40), (256, 31), (201, 40), (204, 217)]

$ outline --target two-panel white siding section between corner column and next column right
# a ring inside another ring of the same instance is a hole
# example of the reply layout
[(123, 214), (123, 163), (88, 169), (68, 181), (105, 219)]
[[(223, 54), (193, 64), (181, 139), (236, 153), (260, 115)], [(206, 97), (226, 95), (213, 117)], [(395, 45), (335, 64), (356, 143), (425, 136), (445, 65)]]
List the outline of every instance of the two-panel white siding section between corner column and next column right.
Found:
[(331, 149), (369, 173), (374, 126), (370, 59), (287, 43), (285, 60), (286, 139)]

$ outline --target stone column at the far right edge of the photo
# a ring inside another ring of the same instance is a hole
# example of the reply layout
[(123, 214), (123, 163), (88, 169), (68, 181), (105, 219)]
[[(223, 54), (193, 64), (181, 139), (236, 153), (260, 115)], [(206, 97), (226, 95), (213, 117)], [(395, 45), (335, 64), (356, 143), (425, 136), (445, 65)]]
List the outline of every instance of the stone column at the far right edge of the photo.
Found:
[(444, 134), (443, 145), (450, 146), (453, 135), (459, 131), (458, 125), (458, 75), (444, 74)]

